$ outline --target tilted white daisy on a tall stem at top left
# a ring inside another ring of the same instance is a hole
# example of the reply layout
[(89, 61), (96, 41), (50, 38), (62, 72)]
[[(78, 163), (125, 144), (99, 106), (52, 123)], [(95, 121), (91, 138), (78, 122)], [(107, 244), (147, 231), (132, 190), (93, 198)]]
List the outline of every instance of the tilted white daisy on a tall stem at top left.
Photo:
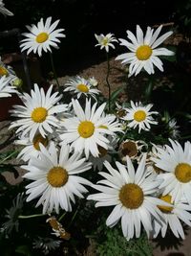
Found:
[(34, 54), (37, 53), (41, 57), (42, 50), (47, 53), (47, 51), (52, 52), (51, 46), (58, 48), (57, 43), (60, 42), (58, 37), (65, 37), (66, 35), (61, 33), (64, 29), (55, 30), (59, 20), (53, 22), (52, 25), (51, 22), (52, 17), (48, 17), (45, 23), (41, 18), (37, 26), (34, 24), (27, 26), (30, 33), (23, 33), (27, 38), (21, 40), (21, 51), (28, 49), (27, 55), (33, 51)]

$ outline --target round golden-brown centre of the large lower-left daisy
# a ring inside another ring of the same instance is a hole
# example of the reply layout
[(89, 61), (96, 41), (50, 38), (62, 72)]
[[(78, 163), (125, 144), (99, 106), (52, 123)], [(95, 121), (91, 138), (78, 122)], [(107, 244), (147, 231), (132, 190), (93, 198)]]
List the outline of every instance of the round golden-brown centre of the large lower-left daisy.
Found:
[(60, 166), (53, 167), (47, 175), (48, 182), (55, 188), (59, 188), (65, 185), (68, 181), (68, 178), (69, 175), (67, 171)]

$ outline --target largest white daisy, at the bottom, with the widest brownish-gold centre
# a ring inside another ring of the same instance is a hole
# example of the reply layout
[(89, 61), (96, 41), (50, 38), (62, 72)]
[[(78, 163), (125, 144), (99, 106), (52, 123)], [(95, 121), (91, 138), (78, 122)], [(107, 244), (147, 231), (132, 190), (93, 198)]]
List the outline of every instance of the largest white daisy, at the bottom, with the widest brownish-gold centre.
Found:
[(99, 173), (105, 179), (97, 182), (101, 185), (93, 186), (100, 193), (88, 197), (97, 201), (96, 207), (114, 206), (106, 224), (112, 227), (121, 219), (122, 232), (127, 240), (140, 236), (141, 223), (149, 236), (153, 218), (160, 221), (157, 205), (165, 203), (153, 196), (158, 190), (159, 180), (155, 179), (155, 175), (146, 176), (145, 160), (146, 154), (143, 155), (137, 171), (129, 157), (127, 167), (116, 162), (118, 171), (106, 161), (105, 167), (109, 174)]

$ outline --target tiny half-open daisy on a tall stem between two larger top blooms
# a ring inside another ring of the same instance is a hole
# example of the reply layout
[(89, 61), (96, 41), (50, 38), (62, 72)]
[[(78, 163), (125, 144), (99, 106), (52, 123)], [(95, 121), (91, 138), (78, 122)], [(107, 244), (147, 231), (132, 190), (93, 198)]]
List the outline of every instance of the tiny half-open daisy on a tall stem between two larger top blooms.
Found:
[(98, 43), (96, 44), (96, 46), (100, 46), (100, 49), (105, 49), (105, 51), (108, 53), (109, 52), (109, 47), (112, 47), (113, 49), (115, 49), (114, 43), (112, 42), (117, 42), (117, 38), (114, 36), (114, 34), (109, 33), (107, 35), (96, 35), (96, 40), (98, 41)]

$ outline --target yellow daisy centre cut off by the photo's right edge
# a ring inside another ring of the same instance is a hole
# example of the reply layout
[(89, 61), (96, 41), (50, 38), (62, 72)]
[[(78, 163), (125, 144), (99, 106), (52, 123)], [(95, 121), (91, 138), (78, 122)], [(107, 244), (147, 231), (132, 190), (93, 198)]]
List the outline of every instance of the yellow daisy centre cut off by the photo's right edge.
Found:
[(191, 165), (186, 163), (178, 164), (175, 168), (175, 175), (180, 182), (189, 182), (191, 180)]

